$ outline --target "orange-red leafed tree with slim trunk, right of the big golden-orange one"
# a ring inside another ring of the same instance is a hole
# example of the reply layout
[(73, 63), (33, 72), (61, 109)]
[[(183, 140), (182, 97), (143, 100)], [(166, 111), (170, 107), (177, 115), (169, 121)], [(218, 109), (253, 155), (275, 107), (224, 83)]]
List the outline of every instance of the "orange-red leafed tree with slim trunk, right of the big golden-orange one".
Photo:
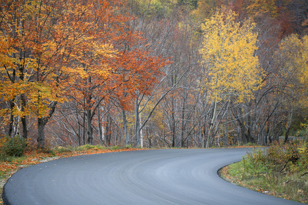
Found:
[[(115, 3), (115, 2), (114, 2)], [(157, 81), (160, 68), (168, 62), (147, 51), (142, 33), (133, 30), (130, 23), (133, 17), (120, 4), (116, 9), (103, 10), (100, 21), (103, 27), (104, 42), (111, 44), (115, 51), (105, 59), (105, 69), (96, 62), (83, 64), (84, 69), (75, 75), (68, 96), (78, 102), (86, 117), (87, 142), (92, 143), (94, 115), (100, 105), (107, 105), (110, 98), (116, 98), (123, 110), (131, 109), (136, 92), (148, 94)], [(98, 8), (98, 7), (95, 7)], [(105, 16), (105, 17), (104, 17)], [(107, 29), (108, 28), (108, 29)]]

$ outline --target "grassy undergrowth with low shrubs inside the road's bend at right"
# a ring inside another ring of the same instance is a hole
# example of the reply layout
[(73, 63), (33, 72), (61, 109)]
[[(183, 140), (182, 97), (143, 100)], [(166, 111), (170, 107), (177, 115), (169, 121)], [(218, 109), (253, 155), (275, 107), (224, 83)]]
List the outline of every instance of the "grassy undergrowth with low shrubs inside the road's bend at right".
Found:
[(303, 141), (255, 148), (222, 176), (244, 187), (298, 202), (308, 202), (308, 144)]

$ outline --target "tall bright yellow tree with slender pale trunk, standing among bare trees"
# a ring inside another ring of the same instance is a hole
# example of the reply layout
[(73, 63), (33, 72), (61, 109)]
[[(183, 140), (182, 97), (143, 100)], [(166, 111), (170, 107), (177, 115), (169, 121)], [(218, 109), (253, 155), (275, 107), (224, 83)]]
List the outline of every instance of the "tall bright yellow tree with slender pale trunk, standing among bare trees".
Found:
[(214, 104), (207, 135), (216, 123), (216, 106), (219, 101), (244, 102), (253, 98), (253, 91), (261, 84), (255, 23), (237, 21), (235, 12), (222, 7), (201, 25), (203, 35), (201, 64), (207, 70), (201, 86), (209, 93)]

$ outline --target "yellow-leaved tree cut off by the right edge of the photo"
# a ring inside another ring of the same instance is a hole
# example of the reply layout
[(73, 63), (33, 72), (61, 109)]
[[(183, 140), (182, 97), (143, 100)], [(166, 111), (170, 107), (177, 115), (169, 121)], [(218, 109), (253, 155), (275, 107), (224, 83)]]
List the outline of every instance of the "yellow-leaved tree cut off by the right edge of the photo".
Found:
[(287, 141), (293, 115), (296, 109), (307, 109), (308, 90), (308, 36), (302, 39), (298, 35), (287, 36), (279, 44), (275, 53), (279, 68), (281, 98), (285, 102), (286, 128), (285, 142)]

